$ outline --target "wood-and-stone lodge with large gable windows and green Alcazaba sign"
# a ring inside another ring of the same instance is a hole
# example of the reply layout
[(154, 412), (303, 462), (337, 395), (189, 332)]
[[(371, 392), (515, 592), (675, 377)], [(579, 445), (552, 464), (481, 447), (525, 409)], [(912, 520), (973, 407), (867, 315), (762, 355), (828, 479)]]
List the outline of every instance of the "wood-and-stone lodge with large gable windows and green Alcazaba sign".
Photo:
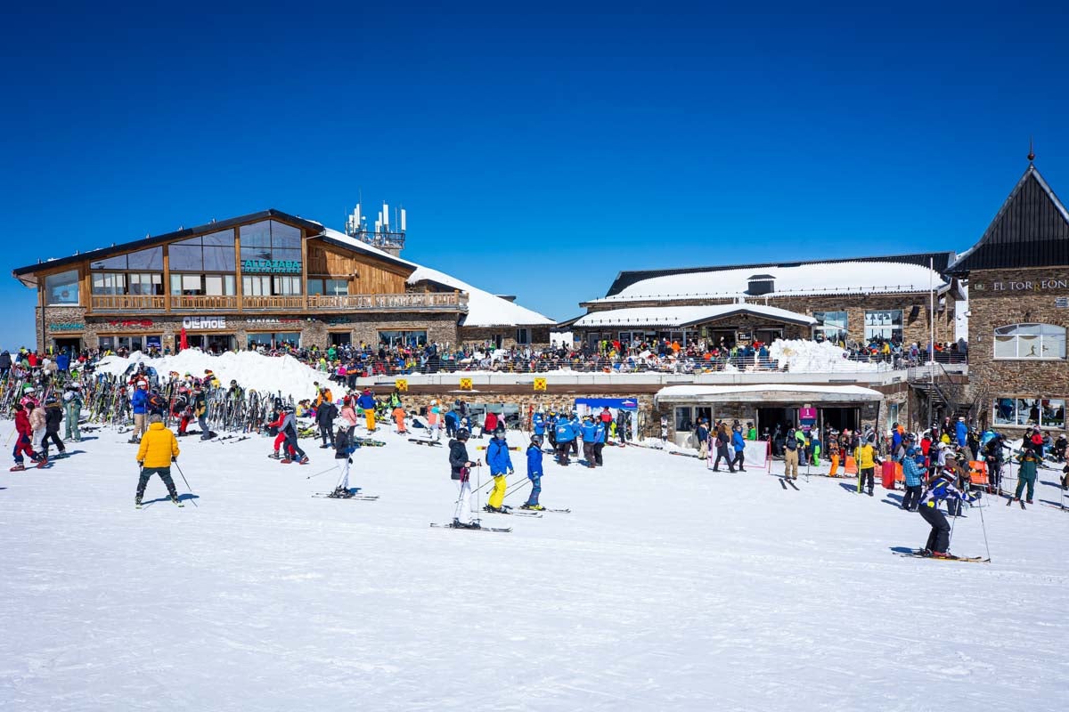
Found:
[(37, 348), (548, 344), (553, 320), (317, 222), (265, 210), (13, 270)]

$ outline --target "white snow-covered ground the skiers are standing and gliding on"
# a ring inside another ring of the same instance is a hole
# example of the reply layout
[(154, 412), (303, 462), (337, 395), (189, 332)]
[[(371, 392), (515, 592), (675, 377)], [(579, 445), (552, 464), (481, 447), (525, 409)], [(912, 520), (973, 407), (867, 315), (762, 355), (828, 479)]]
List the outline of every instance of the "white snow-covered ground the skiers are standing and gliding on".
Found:
[[(387, 433), (355, 456), (377, 502), (309, 496), (312, 441), (183, 440), (198, 497), (138, 511), (135, 446), (94, 434), (0, 476), (0, 710), (1069, 709), (1069, 513), (1038, 502), (983, 510), (990, 565), (900, 558), (927, 526), (897, 492), (629, 447), (547, 458), (572, 513), (434, 529), (446, 450)], [(979, 509), (952, 550), (985, 553)]]

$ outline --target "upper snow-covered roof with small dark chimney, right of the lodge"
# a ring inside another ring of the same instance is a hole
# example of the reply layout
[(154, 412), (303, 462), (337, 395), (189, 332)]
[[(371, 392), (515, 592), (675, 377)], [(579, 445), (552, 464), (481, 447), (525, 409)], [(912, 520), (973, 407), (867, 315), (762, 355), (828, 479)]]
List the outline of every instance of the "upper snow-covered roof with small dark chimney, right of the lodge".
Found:
[[(591, 303), (744, 297), (754, 272), (753, 267), (743, 267), (652, 276), (611, 297), (591, 300)], [(946, 286), (936, 270), (895, 262), (788, 264), (764, 266), (761, 272), (775, 280), (774, 291), (766, 295), (769, 297), (928, 291), (929, 285)]]

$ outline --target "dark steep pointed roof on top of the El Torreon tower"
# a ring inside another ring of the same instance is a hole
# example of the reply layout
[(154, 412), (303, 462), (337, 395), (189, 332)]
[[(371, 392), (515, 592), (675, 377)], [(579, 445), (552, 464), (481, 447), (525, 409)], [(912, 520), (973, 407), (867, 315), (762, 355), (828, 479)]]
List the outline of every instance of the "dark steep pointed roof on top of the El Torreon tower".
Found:
[(979, 241), (948, 272), (1069, 265), (1069, 212), (1028, 163)]

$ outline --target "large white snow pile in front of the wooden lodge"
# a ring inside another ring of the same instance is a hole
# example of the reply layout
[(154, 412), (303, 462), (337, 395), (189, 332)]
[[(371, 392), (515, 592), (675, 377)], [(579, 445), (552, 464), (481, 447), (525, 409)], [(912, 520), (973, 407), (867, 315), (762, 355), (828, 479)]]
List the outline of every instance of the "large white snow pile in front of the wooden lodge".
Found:
[(314, 382), (323, 383), (327, 374), (310, 368), (291, 355), (267, 357), (257, 351), (227, 351), (221, 355), (210, 355), (200, 349), (186, 349), (173, 357), (150, 359), (140, 351), (134, 351), (129, 358), (111, 355), (102, 359), (96, 373), (121, 376), (138, 363), (144, 362), (146, 367), (156, 369), (160, 382), (169, 380), (172, 370), (180, 376), (190, 374), (196, 378), (204, 376), (204, 369), (211, 369), (223, 384), (237, 381), (244, 389), (254, 389), (260, 392), (292, 395), (295, 398), (310, 398), (315, 394)]

